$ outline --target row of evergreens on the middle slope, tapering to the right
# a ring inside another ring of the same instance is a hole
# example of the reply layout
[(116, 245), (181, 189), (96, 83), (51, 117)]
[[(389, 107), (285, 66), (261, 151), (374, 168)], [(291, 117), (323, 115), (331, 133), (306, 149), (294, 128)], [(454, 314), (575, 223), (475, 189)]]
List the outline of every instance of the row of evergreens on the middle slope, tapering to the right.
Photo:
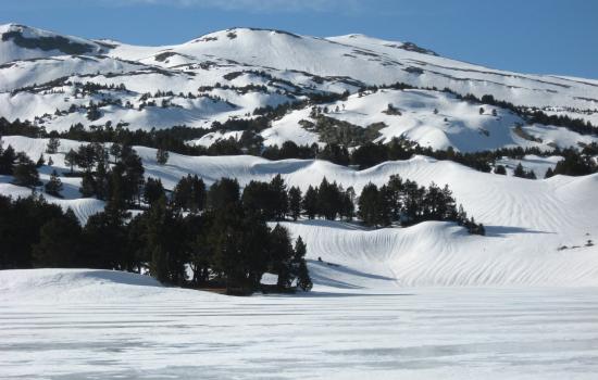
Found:
[[(304, 194), (297, 187), (287, 189), (279, 175), (271, 182), (251, 181), (244, 189), (241, 201), (247, 212), (264, 220), (282, 220), (300, 216), (309, 219), (352, 220), (359, 217), (366, 226), (386, 227), (393, 223), (412, 226), (426, 220), (454, 221), (470, 233), (485, 235), (482, 224), (468, 218), (462, 206), (457, 207), (452, 192), (435, 183), (419, 186), (411, 180), (391, 176), (381, 187), (366, 185), (359, 198), (352, 187), (344, 189), (336, 181), (323, 178), (320, 186), (310, 186)], [(356, 215), (356, 210), (358, 210)]]

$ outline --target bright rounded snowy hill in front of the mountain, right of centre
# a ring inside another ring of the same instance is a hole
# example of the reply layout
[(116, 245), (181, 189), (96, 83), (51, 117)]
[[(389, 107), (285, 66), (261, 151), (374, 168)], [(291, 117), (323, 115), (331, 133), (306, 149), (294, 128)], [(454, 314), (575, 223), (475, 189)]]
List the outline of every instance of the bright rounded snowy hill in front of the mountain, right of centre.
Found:
[[(391, 104), (400, 115), (388, 115)], [(364, 96), (352, 94), (347, 101), (321, 104), (328, 109), (324, 114), (338, 121), (360, 127), (384, 123), (377, 141), (389, 142), (395, 137), (404, 137), (423, 147), (446, 150), (449, 147), (461, 152), (478, 152), (503, 147), (537, 147), (552, 150), (553, 145), (578, 147), (598, 142), (598, 137), (582, 136), (562, 127), (525, 125), (511, 111), (458, 100), (454, 96), (427, 90), (379, 90)], [(484, 114), (479, 114), (479, 109)], [(290, 140), (299, 144), (320, 142), (319, 136), (306, 130), (300, 121), (314, 123), (311, 109), (294, 111), (273, 123), (272, 128), (262, 131), (264, 143), (282, 145)], [(435, 112), (436, 111), (436, 112)], [(496, 116), (493, 115), (496, 112)], [(514, 132), (518, 126), (541, 142), (521, 138)]]

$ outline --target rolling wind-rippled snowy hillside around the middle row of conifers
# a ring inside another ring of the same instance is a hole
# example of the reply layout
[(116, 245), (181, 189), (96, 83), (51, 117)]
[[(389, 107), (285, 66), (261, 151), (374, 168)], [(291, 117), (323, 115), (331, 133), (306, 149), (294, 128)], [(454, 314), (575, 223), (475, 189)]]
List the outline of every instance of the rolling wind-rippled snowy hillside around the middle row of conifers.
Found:
[[(34, 157), (41, 154), (47, 144), (46, 139), (5, 137), (3, 140), (5, 145), (10, 143)], [(52, 157), (53, 168), (68, 172), (62, 152), (77, 144), (63, 140), (61, 152), (47, 155)], [(309, 185), (319, 185), (326, 177), (345, 188), (353, 187), (358, 193), (366, 183), (381, 186), (394, 174), (423, 185), (433, 181), (440, 186), (447, 183), (465, 210), (486, 226), (487, 236), (476, 237), (447, 223), (375, 231), (339, 221), (286, 223), (291, 233), (300, 235), (308, 243), (308, 257), (312, 259), (310, 268), (316, 274), (315, 278), (322, 280), (320, 284), (345, 276), (342, 270), (390, 279), (354, 284), (372, 288), (397, 284), (598, 284), (598, 251), (588, 244), (588, 241), (596, 242), (598, 233), (598, 204), (594, 202), (597, 175), (528, 180), (481, 173), (424, 156), (388, 162), (361, 172), (324, 161), (271, 162), (254, 156), (172, 154), (166, 165), (158, 165), (155, 150), (135, 149), (144, 161), (146, 176), (160, 178), (166, 189), (172, 189), (188, 173), (199, 175), (207, 185), (221, 177), (234, 177), (241, 186), (252, 179), (271, 180), (279, 173), (289, 186), (302, 190)], [(532, 157), (522, 162), (537, 165)], [(49, 179), (51, 169), (41, 169), (41, 180)], [(64, 178), (64, 200), (47, 198), (65, 208), (72, 207), (82, 220), (86, 220), (101, 211), (103, 203), (80, 199), (78, 181), (78, 178)], [(0, 193), (13, 197), (30, 193), (30, 190), (9, 182), (10, 177), (0, 177)], [(321, 274), (317, 257), (344, 267), (339, 273), (333, 268), (332, 274)], [(354, 278), (348, 283), (351, 281)]]

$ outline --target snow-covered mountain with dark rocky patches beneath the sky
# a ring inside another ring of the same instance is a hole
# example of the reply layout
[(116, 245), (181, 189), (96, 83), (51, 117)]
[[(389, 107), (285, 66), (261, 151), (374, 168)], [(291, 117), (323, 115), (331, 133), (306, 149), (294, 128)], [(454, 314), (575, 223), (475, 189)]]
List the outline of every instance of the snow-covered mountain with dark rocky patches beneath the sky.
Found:
[[(319, 106), (329, 110), (328, 117), (358, 127), (377, 125), (376, 141), (402, 136), (436, 149), (477, 151), (576, 147), (596, 140), (563, 127), (530, 125), (510, 110), (454, 93), (491, 94), (597, 124), (597, 80), (490, 69), (411, 42), (251, 28), (165, 47), (89, 40), (15, 24), (0, 26), (0, 116), (35, 121), (47, 130), (66, 130), (77, 123), (209, 128), (215, 121), (253, 117), (259, 107), (349, 91), (346, 100)], [(416, 89), (359, 91), (396, 83)], [(99, 110), (94, 117), (88, 115), (91, 102)], [(388, 104), (399, 113), (385, 113)], [(265, 144), (324, 142), (299, 124), (310, 122), (311, 106), (289, 112), (262, 130)], [(226, 132), (211, 134), (199, 143), (237, 136)]]

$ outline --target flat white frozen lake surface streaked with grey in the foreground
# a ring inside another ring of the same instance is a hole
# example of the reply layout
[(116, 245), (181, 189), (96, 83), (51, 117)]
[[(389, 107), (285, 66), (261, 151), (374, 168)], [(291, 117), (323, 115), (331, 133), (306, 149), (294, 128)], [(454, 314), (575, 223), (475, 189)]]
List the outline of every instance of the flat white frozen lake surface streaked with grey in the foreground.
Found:
[(149, 280), (52, 295), (48, 283), (32, 296), (0, 281), (0, 378), (598, 377), (596, 288), (227, 297)]

